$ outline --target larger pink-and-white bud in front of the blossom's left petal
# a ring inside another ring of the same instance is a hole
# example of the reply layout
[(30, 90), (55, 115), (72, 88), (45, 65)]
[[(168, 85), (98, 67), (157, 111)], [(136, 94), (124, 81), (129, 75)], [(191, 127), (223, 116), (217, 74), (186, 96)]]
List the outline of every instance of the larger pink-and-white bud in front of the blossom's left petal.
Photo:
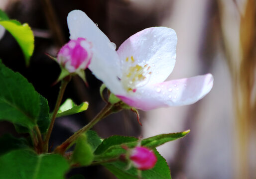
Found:
[(70, 73), (86, 69), (92, 59), (92, 44), (84, 38), (70, 40), (59, 51), (57, 62)]

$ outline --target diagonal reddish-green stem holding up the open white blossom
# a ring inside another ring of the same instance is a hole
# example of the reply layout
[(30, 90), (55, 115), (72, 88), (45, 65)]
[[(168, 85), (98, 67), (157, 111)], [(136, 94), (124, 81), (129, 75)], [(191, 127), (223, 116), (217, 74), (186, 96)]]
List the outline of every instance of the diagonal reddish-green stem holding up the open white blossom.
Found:
[(70, 136), (65, 142), (63, 142), (60, 146), (58, 146), (54, 152), (59, 154), (64, 154), (70, 144), (72, 144), (82, 133), (91, 129), (97, 122), (106, 117), (107, 115), (112, 113), (110, 110), (113, 107), (113, 104), (107, 103), (107, 105), (95, 116), (95, 118), (89, 122), (86, 126), (81, 128), (79, 131), (75, 132), (72, 136)]

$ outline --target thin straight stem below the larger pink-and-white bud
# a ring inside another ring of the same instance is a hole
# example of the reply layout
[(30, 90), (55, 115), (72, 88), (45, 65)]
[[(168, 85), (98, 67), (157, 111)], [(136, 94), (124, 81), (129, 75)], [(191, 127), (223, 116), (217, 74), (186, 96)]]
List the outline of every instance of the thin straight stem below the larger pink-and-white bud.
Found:
[(61, 100), (62, 100), (64, 91), (65, 91), (69, 81), (70, 81), (70, 77), (69, 78), (64, 78), (61, 82), (59, 95), (58, 95), (58, 98), (57, 98), (57, 101), (56, 101), (56, 104), (55, 104), (55, 107), (54, 107), (54, 110), (53, 110), (53, 113), (52, 113), (51, 123), (50, 123), (49, 129), (48, 129), (47, 134), (46, 134), (45, 139), (44, 139), (44, 151), (45, 152), (48, 151), (49, 139), (50, 139), (50, 136), (51, 136), (52, 128), (53, 128), (53, 125), (54, 125), (54, 122), (55, 122), (55, 119), (56, 119), (56, 115), (57, 115), (57, 112), (58, 112), (60, 104), (61, 104)]

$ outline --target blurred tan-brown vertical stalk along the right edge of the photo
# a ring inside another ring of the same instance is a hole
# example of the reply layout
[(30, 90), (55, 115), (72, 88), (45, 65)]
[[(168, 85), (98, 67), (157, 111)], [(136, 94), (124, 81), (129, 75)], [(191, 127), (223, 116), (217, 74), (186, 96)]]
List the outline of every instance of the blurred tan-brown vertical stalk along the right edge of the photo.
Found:
[[(250, 160), (255, 161), (251, 158), (255, 157), (255, 152), (250, 154), (249, 146), (253, 142), (256, 119), (256, 2), (245, 0), (244, 4), (236, 4), (232, 0), (219, 0), (219, 7), (225, 50), (233, 80), (235, 131), (238, 131), (234, 134), (237, 150), (234, 153), (234, 176), (237, 179), (250, 179), (254, 175), (254, 171), (250, 171)], [(237, 32), (238, 39), (234, 39), (234, 31)]]

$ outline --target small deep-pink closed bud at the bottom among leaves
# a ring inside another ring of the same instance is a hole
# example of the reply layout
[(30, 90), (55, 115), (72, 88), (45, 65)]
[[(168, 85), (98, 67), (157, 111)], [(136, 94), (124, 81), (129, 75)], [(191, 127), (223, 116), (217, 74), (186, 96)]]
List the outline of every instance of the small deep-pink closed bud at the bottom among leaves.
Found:
[(135, 147), (132, 149), (129, 159), (138, 170), (152, 169), (157, 161), (154, 152), (146, 147)]

